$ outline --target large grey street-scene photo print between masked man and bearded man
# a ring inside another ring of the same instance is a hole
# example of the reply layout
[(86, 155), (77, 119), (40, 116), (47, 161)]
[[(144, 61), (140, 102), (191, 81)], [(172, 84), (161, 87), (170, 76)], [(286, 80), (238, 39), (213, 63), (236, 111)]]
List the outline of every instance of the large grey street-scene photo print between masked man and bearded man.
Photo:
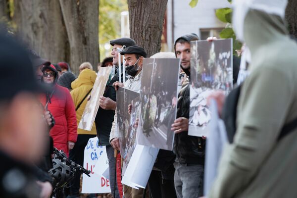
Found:
[(180, 60), (146, 58), (143, 63), (137, 144), (172, 150)]

